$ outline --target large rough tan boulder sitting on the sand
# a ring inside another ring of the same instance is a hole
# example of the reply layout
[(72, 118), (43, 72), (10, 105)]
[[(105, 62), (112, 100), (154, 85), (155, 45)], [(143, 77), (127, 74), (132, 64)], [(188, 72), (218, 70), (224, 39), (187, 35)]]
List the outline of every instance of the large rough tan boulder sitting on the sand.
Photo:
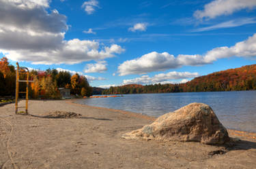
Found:
[(191, 103), (166, 113), (150, 125), (126, 133), (123, 138), (196, 141), (205, 144), (224, 144), (229, 141), (227, 129), (218, 120), (211, 107)]

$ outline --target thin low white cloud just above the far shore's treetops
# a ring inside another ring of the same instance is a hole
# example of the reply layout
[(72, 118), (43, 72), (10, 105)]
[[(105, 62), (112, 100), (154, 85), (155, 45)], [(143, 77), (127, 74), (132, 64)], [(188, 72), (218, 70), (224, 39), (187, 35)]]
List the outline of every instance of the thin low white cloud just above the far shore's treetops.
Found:
[(182, 79), (182, 83), (184, 83), (186, 79), (198, 77), (198, 76), (199, 76), (199, 73), (172, 71), (169, 73), (160, 73), (158, 75), (154, 75), (154, 77), (150, 77), (149, 75), (143, 75), (141, 77), (137, 77), (134, 79), (124, 79), (123, 83), (124, 84), (180, 83), (177, 81), (169, 81), (172, 79)]

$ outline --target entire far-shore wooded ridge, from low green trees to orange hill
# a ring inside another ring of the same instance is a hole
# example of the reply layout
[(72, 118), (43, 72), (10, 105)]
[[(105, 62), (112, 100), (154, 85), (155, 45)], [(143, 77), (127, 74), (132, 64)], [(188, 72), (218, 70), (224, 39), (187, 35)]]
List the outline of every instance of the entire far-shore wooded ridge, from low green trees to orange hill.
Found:
[(158, 83), (146, 86), (130, 84), (111, 87), (103, 90), (102, 94), (214, 92), (235, 90), (256, 90), (256, 64), (196, 77), (187, 83), (163, 85)]

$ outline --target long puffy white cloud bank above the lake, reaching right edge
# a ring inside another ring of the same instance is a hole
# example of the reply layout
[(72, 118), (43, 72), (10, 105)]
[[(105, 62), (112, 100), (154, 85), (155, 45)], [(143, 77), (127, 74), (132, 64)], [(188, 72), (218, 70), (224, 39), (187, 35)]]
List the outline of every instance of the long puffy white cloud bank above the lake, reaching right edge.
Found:
[(204, 55), (184, 55), (177, 57), (167, 52), (151, 52), (134, 60), (126, 60), (118, 67), (119, 75), (143, 74), (152, 71), (165, 71), (186, 65), (199, 66), (210, 64), (220, 58), (255, 57), (256, 56), (256, 34), (248, 37), (245, 41), (240, 41), (231, 47), (214, 48)]

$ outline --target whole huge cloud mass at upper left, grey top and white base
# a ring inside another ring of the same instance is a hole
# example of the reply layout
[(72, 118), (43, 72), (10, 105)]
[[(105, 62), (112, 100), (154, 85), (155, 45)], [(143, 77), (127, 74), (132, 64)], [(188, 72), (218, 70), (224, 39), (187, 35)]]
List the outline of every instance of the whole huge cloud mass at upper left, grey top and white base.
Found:
[(75, 64), (110, 58), (124, 51), (119, 45), (64, 40), (66, 16), (46, 11), (48, 1), (0, 1), (0, 52), (15, 61), (33, 64)]

